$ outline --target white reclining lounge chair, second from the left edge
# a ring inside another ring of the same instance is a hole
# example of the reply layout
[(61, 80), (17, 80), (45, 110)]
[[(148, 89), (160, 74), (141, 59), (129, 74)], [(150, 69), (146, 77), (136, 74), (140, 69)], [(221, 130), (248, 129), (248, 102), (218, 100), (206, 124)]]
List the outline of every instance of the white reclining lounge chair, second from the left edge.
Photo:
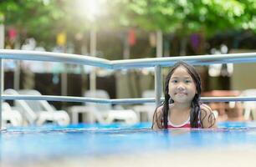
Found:
[[(7, 89), (5, 94), (29, 94), (41, 95), (37, 90), (18, 90)], [(70, 122), (69, 114), (64, 110), (56, 110), (46, 100), (14, 100), (15, 106), (22, 110), (30, 124), (44, 124), (48, 121), (59, 125), (68, 125)]]

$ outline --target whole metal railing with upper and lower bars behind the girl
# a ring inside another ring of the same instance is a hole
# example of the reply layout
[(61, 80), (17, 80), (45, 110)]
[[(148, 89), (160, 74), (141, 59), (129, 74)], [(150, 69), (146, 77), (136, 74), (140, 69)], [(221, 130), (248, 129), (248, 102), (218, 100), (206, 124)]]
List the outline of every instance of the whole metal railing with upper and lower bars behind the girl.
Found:
[[(100, 68), (125, 69), (125, 68), (148, 68), (155, 67), (155, 99), (95, 99), (72, 96), (33, 96), (33, 95), (7, 95), (0, 91), (0, 100), (30, 99), (30, 100), (48, 100), (65, 102), (83, 102), (83, 103), (107, 103), (107, 104), (141, 104), (153, 103), (156, 105), (161, 102), (161, 68), (170, 67), (177, 61), (182, 60), (192, 65), (208, 65), (214, 63), (253, 63), (256, 62), (256, 53), (230, 53), (215, 55), (198, 55), (168, 58), (140, 58), (129, 60), (106, 60), (104, 58), (95, 58), (84, 55), (69, 53), (49, 53), (37, 51), (8, 50), (0, 49), (0, 78), (2, 78), (2, 59), (14, 60), (34, 60), (59, 63), (74, 63), (81, 65), (90, 65)], [(0, 89), (3, 90), (2, 81)], [(209, 97), (202, 98), (203, 102), (228, 102), (228, 101), (256, 101), (256, 97)], [(2, 103), (0, 103), (0, 120), (2, 120)], [(0, 129), (2, 128), (0, 121)]]

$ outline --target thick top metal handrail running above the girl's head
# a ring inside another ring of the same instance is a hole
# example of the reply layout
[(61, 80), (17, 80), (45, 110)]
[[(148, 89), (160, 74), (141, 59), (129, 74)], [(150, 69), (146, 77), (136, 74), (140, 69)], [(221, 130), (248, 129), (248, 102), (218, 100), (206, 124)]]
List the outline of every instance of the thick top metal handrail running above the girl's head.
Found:
[(24, 51), (0, 49), (0, 58), (16, 60), (33, 60), (60, 63), (74, 63), (90, 65), (100, 68), (125, 69), (125, 68), (149, 68), (160, 65), (161, 67), (171, 67), (177, 61), (182, 60), (192, 65), (209, 65), (214, 63), (252, 63), (256, 62), (256, 53), (228, 53), (209, 54), (198, 56), (180, 56), (165, 58), (137, 58), (129, 60), (106, 60), (91, 56), (69, 54), (69, 53), (49, 53), (39, 51)]

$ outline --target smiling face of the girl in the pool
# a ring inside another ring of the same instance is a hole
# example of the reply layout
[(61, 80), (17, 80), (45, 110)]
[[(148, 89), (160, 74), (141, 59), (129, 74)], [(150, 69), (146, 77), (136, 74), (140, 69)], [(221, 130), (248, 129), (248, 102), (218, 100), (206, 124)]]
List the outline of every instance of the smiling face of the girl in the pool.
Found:
[(168, 87), (169, 95), (175, 103), (191, 103), (197, 93), (196, 84), (187, 69), (182, 66), (172, 73)]

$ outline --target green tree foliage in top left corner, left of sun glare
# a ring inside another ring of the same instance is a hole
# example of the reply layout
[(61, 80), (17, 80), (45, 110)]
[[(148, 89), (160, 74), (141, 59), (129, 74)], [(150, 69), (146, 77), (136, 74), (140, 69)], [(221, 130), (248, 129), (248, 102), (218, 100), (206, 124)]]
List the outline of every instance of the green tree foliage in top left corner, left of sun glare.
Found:
[(44, 0), (8, 0), (0, 3), (0, 13), (3, 23), (8, 29), (13, 27), (18, 31), (18, 40), (33, 37), (49, 46), (55, 42), (55, 34), (61, 28), (56, 25), (64, 18), (64, 12), (58, 8), (61, 1)]

